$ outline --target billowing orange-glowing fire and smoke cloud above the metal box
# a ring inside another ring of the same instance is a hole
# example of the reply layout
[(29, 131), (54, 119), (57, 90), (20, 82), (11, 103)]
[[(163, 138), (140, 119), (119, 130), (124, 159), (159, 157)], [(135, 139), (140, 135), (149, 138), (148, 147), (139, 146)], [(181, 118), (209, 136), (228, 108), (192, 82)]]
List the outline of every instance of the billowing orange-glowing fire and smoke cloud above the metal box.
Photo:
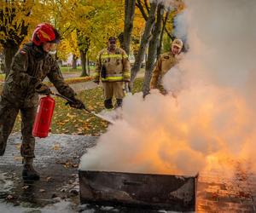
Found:
[(236, 90), (197, 85), (183, 90), (177, 100), (157, 91), (145, 101), (140, 95), (125, 99), (124, 120), (84, 156), (85, 170), (195, 175), (211, 168), (209, 159), (247, 157), (253, 125)]

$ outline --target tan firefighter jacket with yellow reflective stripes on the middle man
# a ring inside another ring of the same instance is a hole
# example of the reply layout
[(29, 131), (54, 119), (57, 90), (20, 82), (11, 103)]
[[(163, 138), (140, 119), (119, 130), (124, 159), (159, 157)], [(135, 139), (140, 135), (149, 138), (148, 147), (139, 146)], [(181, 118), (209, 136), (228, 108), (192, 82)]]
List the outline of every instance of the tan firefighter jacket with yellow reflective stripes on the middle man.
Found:
[(116, 48), (114, 52), (102, 49), (99, 52), (96, 59), (95, 81), (100, 81), (100, 78), (102, 82), (130, 81), (131, 65), (124, 49)]

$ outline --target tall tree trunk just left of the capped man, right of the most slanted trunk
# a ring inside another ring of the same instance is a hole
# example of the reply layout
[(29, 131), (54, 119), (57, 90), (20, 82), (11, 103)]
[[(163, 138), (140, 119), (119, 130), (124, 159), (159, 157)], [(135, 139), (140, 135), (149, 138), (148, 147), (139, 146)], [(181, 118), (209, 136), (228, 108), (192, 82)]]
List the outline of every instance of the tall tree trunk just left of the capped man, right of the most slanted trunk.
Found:
[(152, 71), (154, 69), (154, 61), (157, 55), (157, 48), (160, 42), (160, 32), (161, 32), (161, 24), (162, 18), (164, 14), (164, 6), (158, 5), (157, 7), (157, 21), (154, 26), (153, 37), (149, 42), (148, 45), (148, 60), (146, 62), (146, 70), (144, 76), (144, 83), (143, 83), (143, 96), (148, 95), (149, 93), (149, 84), (150, 79), (152, 76)]

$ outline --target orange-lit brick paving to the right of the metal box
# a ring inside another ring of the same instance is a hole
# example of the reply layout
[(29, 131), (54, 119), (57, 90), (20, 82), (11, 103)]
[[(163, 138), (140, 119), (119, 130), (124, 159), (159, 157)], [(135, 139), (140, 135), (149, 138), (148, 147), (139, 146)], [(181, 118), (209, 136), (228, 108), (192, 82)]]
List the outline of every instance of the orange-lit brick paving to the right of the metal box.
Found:
[(201, 172), (197, 190), (198, 212), (256, 212), (256, 176), (234, 165), (235, 176), (221, 171)]

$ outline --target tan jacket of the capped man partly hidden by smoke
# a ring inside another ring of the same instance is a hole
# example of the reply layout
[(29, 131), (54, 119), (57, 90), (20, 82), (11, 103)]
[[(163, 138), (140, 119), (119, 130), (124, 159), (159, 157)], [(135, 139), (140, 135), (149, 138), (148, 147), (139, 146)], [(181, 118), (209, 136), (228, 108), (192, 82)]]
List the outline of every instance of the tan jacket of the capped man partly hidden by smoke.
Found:
[(171, 52), (160, 55), (159, 60), (156, 62), (154, 71), (152, 74), (150, 88), (151, 89), (160, 89), (161, 92), (164, 92), (165, 89), (162, 85), (162, 78), (168, 72), (172, 66), (177, 64), (177, 58), (175, 55), (172, 55)]

